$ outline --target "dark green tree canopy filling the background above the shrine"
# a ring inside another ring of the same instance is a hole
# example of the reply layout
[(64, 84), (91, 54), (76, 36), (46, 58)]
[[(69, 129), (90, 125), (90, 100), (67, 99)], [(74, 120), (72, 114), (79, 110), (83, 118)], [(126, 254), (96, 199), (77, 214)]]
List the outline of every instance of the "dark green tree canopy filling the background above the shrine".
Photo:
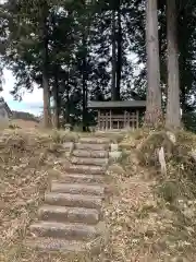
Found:
[[(167, 1), (157, 3), (164, 112)], [(194, 0), (177, 1), (175, 26), (180, 103), (183, 116), (191, 114), (189, 121), (196, 107), (195, 7)], [(0, 68), (13, 72), (16, 82), (12, 94), (16, 99), (23, 91), (32, 91), (35, 83), (44, 88), (47, 124), (51, 110), (57, 127), (59, 116), (72, 124), (94, 123), (94, 115), (87, 110), (89, 99), (146, 99), (145, 0), (8, 0), (0, 4)], [(187, 121), (184, 124), (192, 126)]]

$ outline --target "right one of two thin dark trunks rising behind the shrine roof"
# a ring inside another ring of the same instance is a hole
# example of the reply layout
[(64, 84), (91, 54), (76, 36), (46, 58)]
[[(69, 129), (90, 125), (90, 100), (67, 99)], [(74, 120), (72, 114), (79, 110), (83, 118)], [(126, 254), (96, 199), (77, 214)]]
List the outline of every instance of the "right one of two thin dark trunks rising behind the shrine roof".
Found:
[(122, 71), (122, 26), (121, 26), (121, 1), (118, 1), (118, 62), (117, 62), (117, 99), (121, 94), (121, 71)]

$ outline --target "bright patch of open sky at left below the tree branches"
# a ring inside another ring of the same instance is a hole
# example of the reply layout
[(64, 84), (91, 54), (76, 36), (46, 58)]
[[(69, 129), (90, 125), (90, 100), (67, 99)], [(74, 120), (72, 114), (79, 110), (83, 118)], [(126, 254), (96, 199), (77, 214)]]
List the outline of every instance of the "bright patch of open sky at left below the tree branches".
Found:
[(0, 96), (4, 98), (11, 110), (27, 111), (36, 116), (42, 111), (42, 90), (35, 87), (33, 93), (25, 92), (22, 97), (22, 102), (16, 102), (10, 92), (14, 87), (14, 76), (9, 70), (3, 71), (3, 91), (0, 92)]

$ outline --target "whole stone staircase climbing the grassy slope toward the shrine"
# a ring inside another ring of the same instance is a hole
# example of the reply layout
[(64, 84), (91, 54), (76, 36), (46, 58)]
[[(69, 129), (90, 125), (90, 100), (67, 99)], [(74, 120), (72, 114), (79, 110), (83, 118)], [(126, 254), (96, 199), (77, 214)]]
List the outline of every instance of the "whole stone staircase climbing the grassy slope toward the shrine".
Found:
[(83, 138), (75, 144), (71, 164), (38, 211), (26, 245), (41, 251), (99, 252), (106, 234), (101, 206), (109, 159), (109, 140)]

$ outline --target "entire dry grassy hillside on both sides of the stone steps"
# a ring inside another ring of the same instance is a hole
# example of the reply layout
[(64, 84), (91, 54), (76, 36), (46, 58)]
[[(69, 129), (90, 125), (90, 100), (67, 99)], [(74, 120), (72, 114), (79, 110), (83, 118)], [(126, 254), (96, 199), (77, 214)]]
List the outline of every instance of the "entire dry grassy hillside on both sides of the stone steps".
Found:
[[(105, 221), (108, 243), (99, 258), (40, 254), (22, 242), (37, 219), (50, 179), (64, 174), (64, 141), (78, 133), (4, 131), (0, 136), (0, 261), (196, 261), (196, 136), (139, 130), (121, 139), (122, 157), (108, 171)], [(162, 175), (156, 150), (164, 147)]]

